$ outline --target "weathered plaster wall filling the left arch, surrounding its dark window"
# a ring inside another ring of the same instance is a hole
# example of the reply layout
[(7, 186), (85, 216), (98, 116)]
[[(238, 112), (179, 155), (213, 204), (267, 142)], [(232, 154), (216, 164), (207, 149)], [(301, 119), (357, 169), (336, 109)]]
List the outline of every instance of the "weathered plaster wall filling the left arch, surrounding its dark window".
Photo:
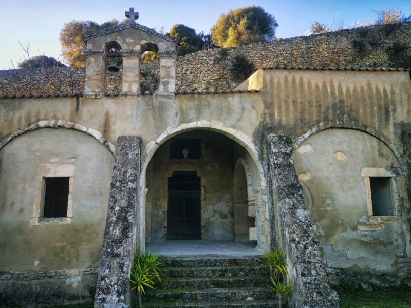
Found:
[[(41, 165), (74, 169), (72, 217), (63, 223), (30, 221), (39, 198)], [(2, 302), (27, 304), (36, 297), (51, 304), (93, 296), (112, 165), (107, 148), (75, 130), (44, 128), (2, 148), (0, 272), (17, 272), (0, 275)], [(13, 296), (17, 287), (21, 297)]]

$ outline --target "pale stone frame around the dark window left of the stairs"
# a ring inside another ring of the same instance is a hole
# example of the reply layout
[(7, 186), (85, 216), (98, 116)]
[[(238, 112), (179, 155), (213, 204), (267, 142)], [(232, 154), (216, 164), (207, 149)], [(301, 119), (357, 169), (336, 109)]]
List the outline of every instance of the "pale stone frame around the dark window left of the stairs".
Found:
[[(67, 217), (43, 217), (44, 200), (46, 195), (45, 178), (69, 178)], [(73, 188), (74, 188), (74, 165), (68, 164), (42, 164), (38, 172), (38, 191), (34, 198), (33, 218), (30, 218), (30, 225), (43, 224), (70, 224), (73, 216)]]

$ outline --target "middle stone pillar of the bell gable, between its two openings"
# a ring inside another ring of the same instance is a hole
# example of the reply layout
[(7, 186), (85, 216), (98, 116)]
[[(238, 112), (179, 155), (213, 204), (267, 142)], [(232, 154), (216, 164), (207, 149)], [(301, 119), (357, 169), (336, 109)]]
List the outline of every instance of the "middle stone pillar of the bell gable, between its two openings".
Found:
[(123, 95), (140, 94), (140, 50), (121, 51), (123, 57)]

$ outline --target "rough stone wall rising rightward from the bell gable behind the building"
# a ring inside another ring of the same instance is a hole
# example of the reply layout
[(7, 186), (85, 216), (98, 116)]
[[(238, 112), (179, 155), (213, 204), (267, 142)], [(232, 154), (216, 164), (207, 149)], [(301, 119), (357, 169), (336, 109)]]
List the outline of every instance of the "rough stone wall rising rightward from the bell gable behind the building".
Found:
[(310, 36), (214, 49), (180, 57), (176, 90), (222, 90), (238, 86), (233, 59), (242, 54), (255, 69), (275, 65), (394, 66), (389, 50), (411, 45), (411, 23), (373, 25)]

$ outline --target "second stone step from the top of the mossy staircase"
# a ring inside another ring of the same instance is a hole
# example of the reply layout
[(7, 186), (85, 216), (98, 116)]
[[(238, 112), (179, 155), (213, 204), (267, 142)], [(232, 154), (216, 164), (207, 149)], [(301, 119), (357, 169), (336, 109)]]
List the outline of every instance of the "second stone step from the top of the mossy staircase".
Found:
[(252, 266), (197, 266), (163, 267), (162, 277), (233, 277), (233, 276), (269, 276), (266, 267)]

